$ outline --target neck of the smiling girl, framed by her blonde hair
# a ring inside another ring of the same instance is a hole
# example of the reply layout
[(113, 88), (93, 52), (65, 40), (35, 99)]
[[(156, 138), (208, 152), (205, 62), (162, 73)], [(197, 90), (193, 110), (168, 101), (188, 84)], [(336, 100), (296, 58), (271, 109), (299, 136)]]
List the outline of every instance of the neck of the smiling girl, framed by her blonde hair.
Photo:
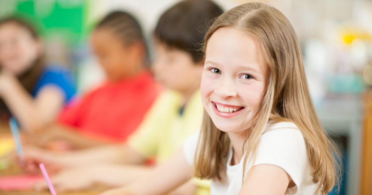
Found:
[(244, 155), (243, 146), (244, 142), (247, 139), (247, 134), (248, 134), (247, 130), (241, 132), (228, 133), (233, 149), (230, 165), (236, 165), (240, 163), (241, 159), (243, 158)]

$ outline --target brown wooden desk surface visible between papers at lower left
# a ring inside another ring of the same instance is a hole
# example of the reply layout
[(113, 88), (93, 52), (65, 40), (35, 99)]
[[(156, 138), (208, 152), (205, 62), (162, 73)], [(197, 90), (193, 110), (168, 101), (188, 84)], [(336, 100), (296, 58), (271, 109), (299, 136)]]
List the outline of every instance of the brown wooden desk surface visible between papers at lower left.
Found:
[[(7, 124), (4, 124), (3, 122), (0, 122), (0, 136), (10, 136), (10, 129)], [(23, 174), (22, 169), (18, 165), (16, 165), (15, 162), (11, 163), (11, 166), (9, 169), (0, 170), (0, 176), (6, 176), (6, 175), (18, 175)], [(97, 195), (101, 192), (107, 190), (106, 186), (102, 185), (96, 185), (92, 189), (84, 190), (84, 191), (76, 191), (76, 192), (64, 192), (64, 193), (57, 193), (58, 195)], [(36, 191), (10, 191), (5, 192), (0, 190), (0, 195), (50, 195), (51, 193), (49, 191), (45, 192), (36, 192)]]

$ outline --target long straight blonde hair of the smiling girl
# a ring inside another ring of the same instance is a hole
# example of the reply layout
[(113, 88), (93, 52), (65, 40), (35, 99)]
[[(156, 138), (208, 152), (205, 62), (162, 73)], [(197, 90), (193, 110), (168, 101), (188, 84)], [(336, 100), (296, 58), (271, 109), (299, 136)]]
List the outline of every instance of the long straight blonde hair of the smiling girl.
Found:
[[(209, 38), (221, 27), (242, 30), (256, 37), (269, 65), (271, 77), (260, 107), (251, 122), (243, 152), (243, 178), (250, 153), (267, 122), (291, 121), (301, 131), (311, 165), (312, 181), (319, 182), (317, 192), (327, 194), (340, 181), (340, 169), (332, 155), (338, 150), (325, 134), (312, 104), (302, 62), (301, 47), (289, 20), (277, 9), (262, 3), (237, 6), (215, 20), (206, 33), (203, 49)], [(230, 146), (228, 134), (217, 129), (205, 112), (195, 155), (195, 177), (222, 180)], [(245, 151), (244, 151), (245, 150)]]

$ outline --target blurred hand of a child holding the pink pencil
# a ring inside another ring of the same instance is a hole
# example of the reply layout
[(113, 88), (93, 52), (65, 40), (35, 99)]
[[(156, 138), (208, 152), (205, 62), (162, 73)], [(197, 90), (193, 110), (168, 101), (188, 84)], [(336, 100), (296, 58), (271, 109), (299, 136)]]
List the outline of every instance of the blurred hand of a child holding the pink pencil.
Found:
[[(76, 191), (93, 187), (95, 181), (90, 173), (94, 172), (94, 170), (91, 169), (90, 166), (62, 169), (51, 177), (55, 191)], [(33, 187), (36, 191), (48, 189), (47, 182), (45, 181), (36, 183)]]

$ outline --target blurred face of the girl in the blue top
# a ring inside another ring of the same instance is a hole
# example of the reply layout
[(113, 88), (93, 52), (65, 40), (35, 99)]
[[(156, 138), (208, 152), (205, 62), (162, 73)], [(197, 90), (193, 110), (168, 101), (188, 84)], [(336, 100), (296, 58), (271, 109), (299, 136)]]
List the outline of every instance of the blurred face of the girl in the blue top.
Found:
[(41, 42), (16, 23), (0, 26), (0, 65), (20, 75), (29, 69), (41, 54)]

